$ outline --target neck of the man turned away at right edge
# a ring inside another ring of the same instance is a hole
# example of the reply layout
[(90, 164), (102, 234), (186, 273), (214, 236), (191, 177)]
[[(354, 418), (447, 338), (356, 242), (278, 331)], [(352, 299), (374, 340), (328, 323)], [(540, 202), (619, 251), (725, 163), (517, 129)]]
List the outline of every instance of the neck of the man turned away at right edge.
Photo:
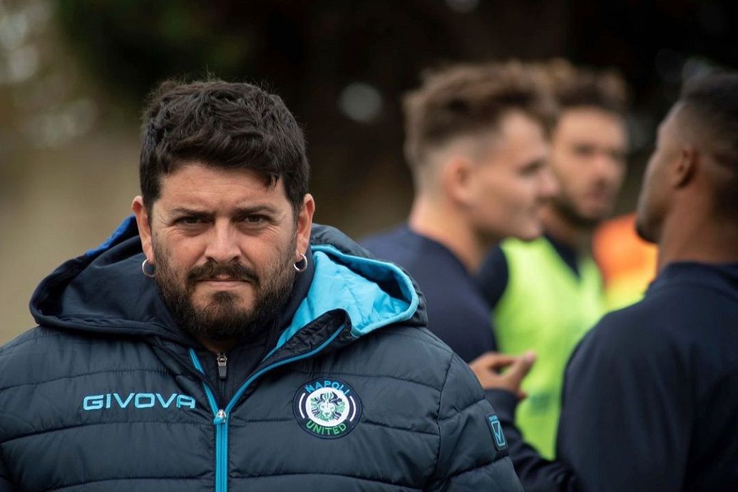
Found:
[(658, 271), (677, 261), (738, 262), (735, 218), (701, 220), (689, 212), (670, 215), (658, 241)]

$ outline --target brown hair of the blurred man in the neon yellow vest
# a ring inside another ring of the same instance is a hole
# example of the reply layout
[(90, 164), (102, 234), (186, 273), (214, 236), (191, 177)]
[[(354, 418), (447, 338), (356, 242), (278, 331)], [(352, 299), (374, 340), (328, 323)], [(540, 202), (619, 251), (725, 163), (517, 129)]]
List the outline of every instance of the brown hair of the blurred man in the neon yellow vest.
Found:
[(578, 68), (562, 58), (531, 63), (530, 69), (541, 77), (554, 94), (562, 111), (595, 107), (625, 116), (628, 89), (623, 77), (614, 70)]

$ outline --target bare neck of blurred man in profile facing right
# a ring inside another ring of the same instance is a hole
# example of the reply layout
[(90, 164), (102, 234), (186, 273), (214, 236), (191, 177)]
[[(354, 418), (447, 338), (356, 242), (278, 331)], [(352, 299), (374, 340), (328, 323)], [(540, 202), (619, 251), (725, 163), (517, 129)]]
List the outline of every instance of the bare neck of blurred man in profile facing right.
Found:
[(480, 238), (460, 212), (421, 195), (413, 202), (408, 223), (413, 231), (451, 250), (470, 274), (480, 268), (489, 249), (497, 243)]

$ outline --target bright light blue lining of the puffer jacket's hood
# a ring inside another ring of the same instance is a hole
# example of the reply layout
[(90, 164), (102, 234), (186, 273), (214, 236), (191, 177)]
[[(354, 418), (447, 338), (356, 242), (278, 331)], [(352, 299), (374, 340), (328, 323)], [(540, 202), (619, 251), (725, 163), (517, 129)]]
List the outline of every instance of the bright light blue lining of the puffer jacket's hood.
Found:
[[(312, 246), (313, 282), (308, 295), (300, 303), (292, 323), (283, 331), (269, 357), (300, 328), (336, 308), (348, 312), (354, 338), (406, 321), (418, 309), (418, 293), (413, 281), (398, 266), (345, 254), (334, 246)], [(379, 283), (399, 285), (402, 298), (392, 297)]]

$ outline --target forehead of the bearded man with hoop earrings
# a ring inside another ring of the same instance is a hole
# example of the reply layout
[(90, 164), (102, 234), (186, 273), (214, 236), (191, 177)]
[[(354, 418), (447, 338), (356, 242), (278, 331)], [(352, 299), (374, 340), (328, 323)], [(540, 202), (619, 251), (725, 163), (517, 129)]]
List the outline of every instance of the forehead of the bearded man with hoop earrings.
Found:
[(253, 170), (223, 169), (193, 162), (162, 176), (156, 204), (165, 209), (227, 210), (255, 204), (285, 206), (289, 201), (281, 178), (270, 184)]

